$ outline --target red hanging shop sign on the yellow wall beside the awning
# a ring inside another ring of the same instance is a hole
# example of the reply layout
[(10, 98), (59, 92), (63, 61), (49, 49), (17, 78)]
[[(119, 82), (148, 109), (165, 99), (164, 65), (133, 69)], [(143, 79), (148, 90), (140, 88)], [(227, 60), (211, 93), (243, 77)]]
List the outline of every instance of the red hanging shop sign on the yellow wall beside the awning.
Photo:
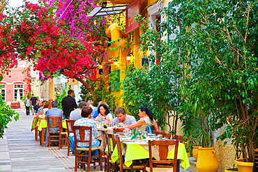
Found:
[(139, 27), (139, 22), (136, 21), (135, 15), (141, 13), (141, 1), (135, 0), (126, 8), (126, 34), (134, 31)]

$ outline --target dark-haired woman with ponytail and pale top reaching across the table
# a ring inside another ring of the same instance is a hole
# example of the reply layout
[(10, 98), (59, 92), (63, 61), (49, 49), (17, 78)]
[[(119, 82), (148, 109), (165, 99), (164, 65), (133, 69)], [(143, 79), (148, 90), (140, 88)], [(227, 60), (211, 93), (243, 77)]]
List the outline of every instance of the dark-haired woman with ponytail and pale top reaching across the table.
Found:
[(136, 128), (137, 130), (142, 130), (142, 132), (145, 132), (147, 126), (154, 126), (155, 131), (158, 131), (158, 124), (153, 119), (154, 114), (151, 110), (149, 110), (147, 107), (140, 107), (139, 108), (139, 120), (136, 123), (133, 123), (131, 125), (126, 125), (124, 128)]

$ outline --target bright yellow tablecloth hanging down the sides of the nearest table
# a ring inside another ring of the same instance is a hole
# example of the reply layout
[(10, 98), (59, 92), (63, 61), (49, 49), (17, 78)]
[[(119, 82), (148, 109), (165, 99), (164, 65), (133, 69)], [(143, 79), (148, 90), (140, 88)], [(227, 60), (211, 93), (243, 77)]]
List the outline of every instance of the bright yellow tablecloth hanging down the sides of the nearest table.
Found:
[[(126, 166), (129, 167), (132, 164), (132, 160), (149, 158), (149, 150), (146, 149), (146, 143), (142, 144), (142, 146), (141, 144), (136, 144), (133, 142), (125, 142), (125, 143), (126, 143), (126, 151), (124, 155), (125, 155)], [(123, 150), (123, 147), (122, 147), (122, 150)], [(117, 148), (117, 145), (114, 148), (111, 159), (113, 162), (116, 162), (119, 159), (119, 150)], [(174, 159), (174, 148), (169, 151), (167, 155), (167, 159)], [(183, 166), (183, 169), (186, 170), (188, 169), (188, 167), (190, 167), (188, 155), (186, 153), (185, 145), (183, 143), (179, 143), (177, 159), (179, 159), (179, 162)]]

